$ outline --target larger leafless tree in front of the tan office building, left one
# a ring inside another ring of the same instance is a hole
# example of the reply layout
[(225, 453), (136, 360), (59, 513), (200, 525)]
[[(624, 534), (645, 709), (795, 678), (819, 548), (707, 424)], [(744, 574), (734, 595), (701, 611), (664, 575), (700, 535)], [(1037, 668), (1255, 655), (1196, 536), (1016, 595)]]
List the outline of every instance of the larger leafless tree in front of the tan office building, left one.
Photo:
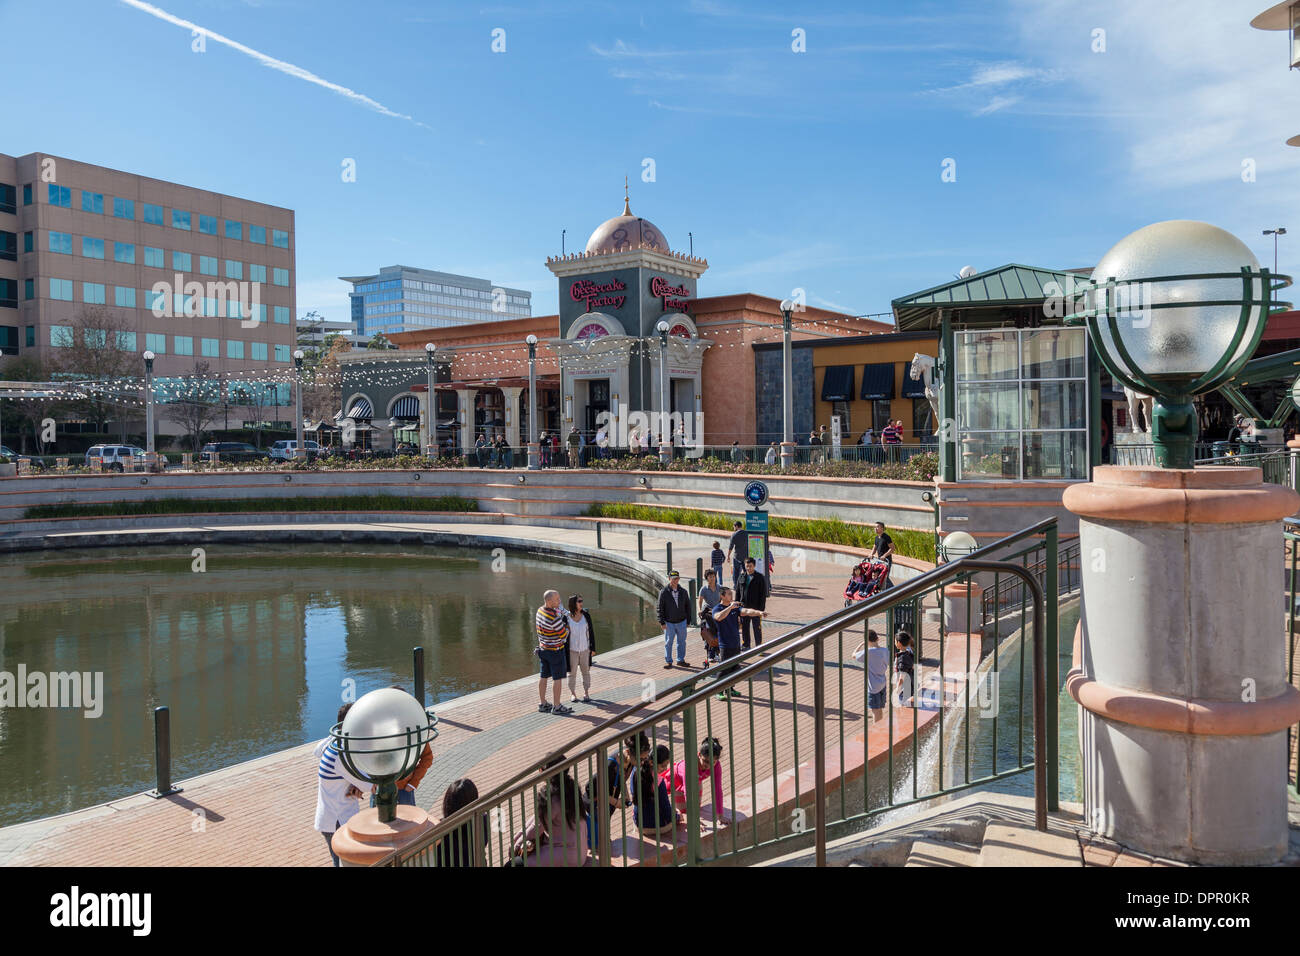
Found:
[(144, 399), (143, 350), (136, 351), (134, 339), (135, 326), (126, 319), (101, 306), (83, 306), (62, 347), (49, 352), (51, 378), (86, 382), (86, 397), (72, 403), (74, 414), (95, 423), (117, 419), (124, 441), (122, 408), (143, 406)]

